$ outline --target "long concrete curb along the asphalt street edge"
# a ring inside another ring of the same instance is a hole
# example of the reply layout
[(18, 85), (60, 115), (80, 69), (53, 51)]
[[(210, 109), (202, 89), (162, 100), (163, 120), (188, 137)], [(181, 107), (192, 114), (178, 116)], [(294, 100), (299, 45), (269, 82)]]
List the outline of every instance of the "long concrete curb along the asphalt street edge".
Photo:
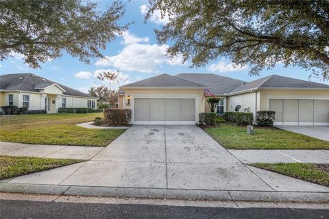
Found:
[(73, 185), (0, 183), (0, 192), (106, 196), (130, 198), (177, 198), (212, 201), (264, 201), (293, 203), (329, 203), (329, 192), (268, 192), (237, 190), (180, 190), (149, 188), (113, 188)]

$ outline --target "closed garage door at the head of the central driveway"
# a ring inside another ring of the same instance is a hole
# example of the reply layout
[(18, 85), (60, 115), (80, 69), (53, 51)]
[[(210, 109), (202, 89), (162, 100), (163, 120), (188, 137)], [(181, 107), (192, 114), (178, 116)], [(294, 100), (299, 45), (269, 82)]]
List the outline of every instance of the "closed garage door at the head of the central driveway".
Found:
[(195, 99), (134, 99), (135, 124), (193, 125)]

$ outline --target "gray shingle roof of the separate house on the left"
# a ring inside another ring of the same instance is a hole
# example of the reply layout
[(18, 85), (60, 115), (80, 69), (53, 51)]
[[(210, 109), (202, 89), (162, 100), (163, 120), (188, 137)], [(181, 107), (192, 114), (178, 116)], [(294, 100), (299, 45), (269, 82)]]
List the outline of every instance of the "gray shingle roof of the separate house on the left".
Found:
[[(39, 77), (38, 75), (34, 75), (32, 73), (0, 75), (0, 90), (21, 90), (38, 92), (38, 89), (46, 88), (47, 86), (56, 83), (49, 79), (45, 79), (44, 81), (44, 79), (44, 77)], [(65, 90), (63, 92), (64, 95), (95, 98), (95, 96), (92, 96), (90, 94), (85, 94), (84, 92), (69, 88), (60, 83), (57, 84)]]

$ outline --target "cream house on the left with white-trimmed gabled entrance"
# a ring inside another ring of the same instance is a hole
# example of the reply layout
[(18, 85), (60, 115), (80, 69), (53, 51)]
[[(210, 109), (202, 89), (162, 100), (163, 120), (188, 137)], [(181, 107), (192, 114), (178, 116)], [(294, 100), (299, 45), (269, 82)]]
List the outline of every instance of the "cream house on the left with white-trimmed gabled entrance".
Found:
[(32, 73), (0, 75), (0, 106), (17, 105), (28, 110), (97, 108), (97, 98)]

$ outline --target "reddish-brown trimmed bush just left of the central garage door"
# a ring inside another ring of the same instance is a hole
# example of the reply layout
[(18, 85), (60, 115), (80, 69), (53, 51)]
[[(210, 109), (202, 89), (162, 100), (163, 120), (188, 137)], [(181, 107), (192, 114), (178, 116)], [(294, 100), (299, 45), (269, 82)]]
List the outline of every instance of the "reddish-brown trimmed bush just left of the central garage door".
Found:
[(105, 109), (104, 120), (108, 125), (127, 125), (132, 118), (132, 110)]

